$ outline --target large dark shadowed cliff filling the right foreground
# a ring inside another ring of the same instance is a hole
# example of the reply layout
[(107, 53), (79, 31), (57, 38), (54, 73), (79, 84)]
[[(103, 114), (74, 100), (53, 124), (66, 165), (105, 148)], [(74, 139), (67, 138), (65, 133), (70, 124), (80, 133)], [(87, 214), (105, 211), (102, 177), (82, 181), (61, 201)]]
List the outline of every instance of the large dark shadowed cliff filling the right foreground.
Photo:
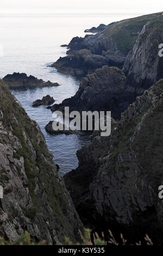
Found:
[(162, 242), (155, 236), (163, 221), (162, 107), (160, 80), (128, 107), (109, 138), (95, 137), (78, 151), (79, 167), (64, 179), (84, 224)]

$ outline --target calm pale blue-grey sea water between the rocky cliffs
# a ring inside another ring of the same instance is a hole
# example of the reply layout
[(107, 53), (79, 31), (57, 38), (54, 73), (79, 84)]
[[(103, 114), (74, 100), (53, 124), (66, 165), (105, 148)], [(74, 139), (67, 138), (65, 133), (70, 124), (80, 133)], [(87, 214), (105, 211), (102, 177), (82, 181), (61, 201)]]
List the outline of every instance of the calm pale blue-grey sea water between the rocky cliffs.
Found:
[(13, 72), (25, 72), (27, 75), (60, 84), (59, 87), (12, 89), (11, 92), (21, 102), (29, 117), (39, 123), (48, 148), (54, 155), (54, 161), (60, 166), (61, 175), (77, 168), (76, 152), (90, 141), (89, 136), (84, 133), (54, 136), (45, 131), (46, 124), (53, 120), (52, 112), (46, 106), (33, 108), (33, 101), (49, 94), (54, 97), (55, 103), (60, 103), (67, 97), (73, 96), (80, 84), (79, 79), (60, 74), (48, 65), (59, 57), (66, 56), (66, 48), (60, 45), (68, 44), (74, 36), (84, 36), (85, 29), (101, 23), (108, 25), (110, 22), (130, 16), (127, 14), (90, 15), (90, 17), (88, 14), (80, 17), (74, 15), (73, 17), (70, 15), (0, 16), (0, 77), (3, 78)]

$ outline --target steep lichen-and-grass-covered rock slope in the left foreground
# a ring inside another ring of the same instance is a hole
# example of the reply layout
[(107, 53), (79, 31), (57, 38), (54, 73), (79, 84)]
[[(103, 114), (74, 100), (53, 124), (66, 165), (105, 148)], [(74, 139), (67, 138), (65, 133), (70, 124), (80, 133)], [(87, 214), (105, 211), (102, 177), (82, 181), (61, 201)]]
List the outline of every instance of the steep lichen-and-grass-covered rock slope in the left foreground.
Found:
[(74, 209), (39, 125), (0, 81), (0, 236), (15, 241), (76, 241), (83, 225)]

